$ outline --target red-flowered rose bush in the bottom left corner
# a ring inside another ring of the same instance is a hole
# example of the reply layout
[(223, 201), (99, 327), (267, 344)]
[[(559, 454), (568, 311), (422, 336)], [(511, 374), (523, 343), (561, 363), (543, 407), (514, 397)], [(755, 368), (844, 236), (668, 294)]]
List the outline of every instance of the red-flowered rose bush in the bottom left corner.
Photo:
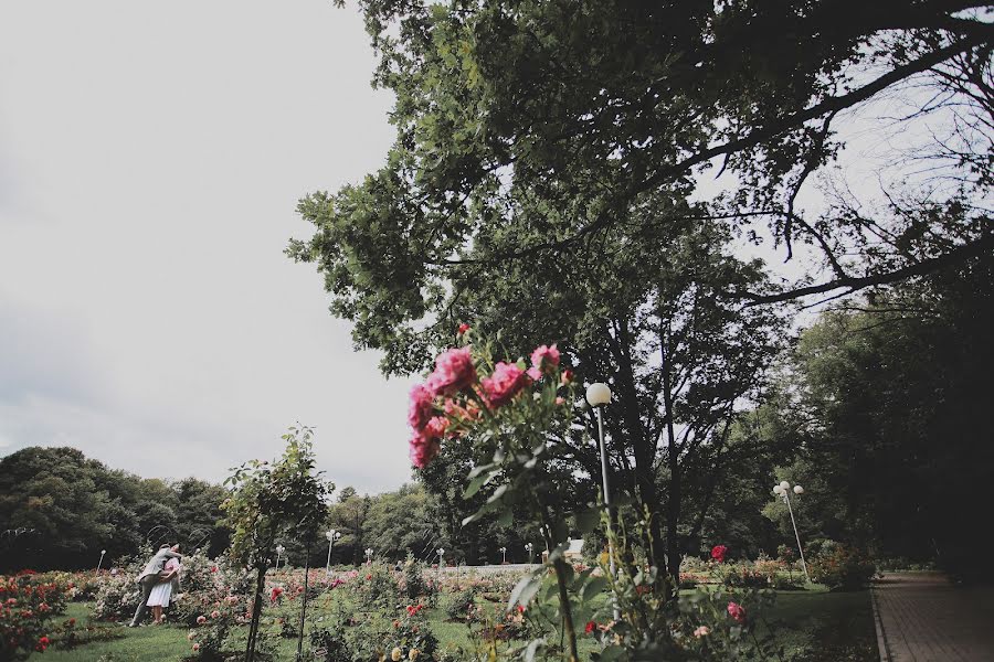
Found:
[(23, 660), (51, 645), (51, 620), (65, 607), (65, 590), (31, 570), (0, 575), (0, 660)]

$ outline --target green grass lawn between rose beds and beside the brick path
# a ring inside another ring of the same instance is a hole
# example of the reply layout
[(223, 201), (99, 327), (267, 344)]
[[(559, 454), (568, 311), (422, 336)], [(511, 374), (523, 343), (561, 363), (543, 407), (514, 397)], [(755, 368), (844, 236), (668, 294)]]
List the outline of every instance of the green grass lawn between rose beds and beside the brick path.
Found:
[[(466, 627), (444, 621), (441, 610), (429, 612), (441, 643), (467, 642)], [(72, 604), (65, 618), (81, 623), (89, 618), (89, 606)], [(770, 627), (783, 644), (785, 658), (796, 662), (877, 662), (876, 633), (869, 592), (785, 591), (768, 613)], [(35, 653), (32, 662), (152, 662), (178, 661), (190, 653), (188, 628), (156, 626), (115, 628), (119, 639), (94, 642), (72, 651), (50, 649)], [(305, 640), (305, 650), (307, 641)], [(281, 660), (293, 660), (296, 640), (283, 640)], [(583, 652), (583, 651), (581, 651)], [(589, 652), (589, 651), (588, 651)]]

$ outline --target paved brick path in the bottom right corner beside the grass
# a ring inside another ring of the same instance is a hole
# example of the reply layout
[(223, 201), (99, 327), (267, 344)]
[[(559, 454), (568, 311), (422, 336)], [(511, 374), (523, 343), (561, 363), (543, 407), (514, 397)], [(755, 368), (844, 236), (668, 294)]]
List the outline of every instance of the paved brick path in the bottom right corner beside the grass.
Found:
[(873, 598), (882, 662), (994, 662), (994, 587), (891, 573)]

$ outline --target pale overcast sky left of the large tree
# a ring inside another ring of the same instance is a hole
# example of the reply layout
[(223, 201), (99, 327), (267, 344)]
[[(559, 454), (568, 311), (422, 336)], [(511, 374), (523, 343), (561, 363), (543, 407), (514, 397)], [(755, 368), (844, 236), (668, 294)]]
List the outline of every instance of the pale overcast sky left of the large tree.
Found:
[(0, 455), (220, 480), (299, 420), (340, 487), (410, 478), (409, 383), (283, 255), (382, 163), (372, 66), (329, 0), (0, 3)]

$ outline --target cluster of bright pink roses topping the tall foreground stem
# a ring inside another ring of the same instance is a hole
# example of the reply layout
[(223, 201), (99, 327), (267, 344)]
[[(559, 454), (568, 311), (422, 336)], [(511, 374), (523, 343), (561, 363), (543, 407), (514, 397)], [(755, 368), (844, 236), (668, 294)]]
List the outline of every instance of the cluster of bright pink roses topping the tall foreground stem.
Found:
[[(466, 324), (461, 325), (459, 335), (468, 329)], [(474, 396), (487, 408), (496, 409), (511, 402), (532, 382), (553, 374), (559, 362), (560, 353), (554, 344), (541, 345), (531, 353), (531, 367), (527, 371), (517, 363), (501, 361), (489, 376), (479, 380), (468, 346), (452, 348), (438, 354), (435, 370), (424, 384), (411, 388), (408, 406), (408, 424), (414, 433), (410, 440), (411, 462), (419, 469), (426, 467), (441, 451), (442, 438), (446, 434), (458, 435), (450, 429), (452, 420), (458, 424), (479, 416), (480, 406), (473, 402)], [(563, 383), (570, 380), (572, 373), (565, 371)], [(453, 399), (459, 393), (470, 395), (465, 405)]]

